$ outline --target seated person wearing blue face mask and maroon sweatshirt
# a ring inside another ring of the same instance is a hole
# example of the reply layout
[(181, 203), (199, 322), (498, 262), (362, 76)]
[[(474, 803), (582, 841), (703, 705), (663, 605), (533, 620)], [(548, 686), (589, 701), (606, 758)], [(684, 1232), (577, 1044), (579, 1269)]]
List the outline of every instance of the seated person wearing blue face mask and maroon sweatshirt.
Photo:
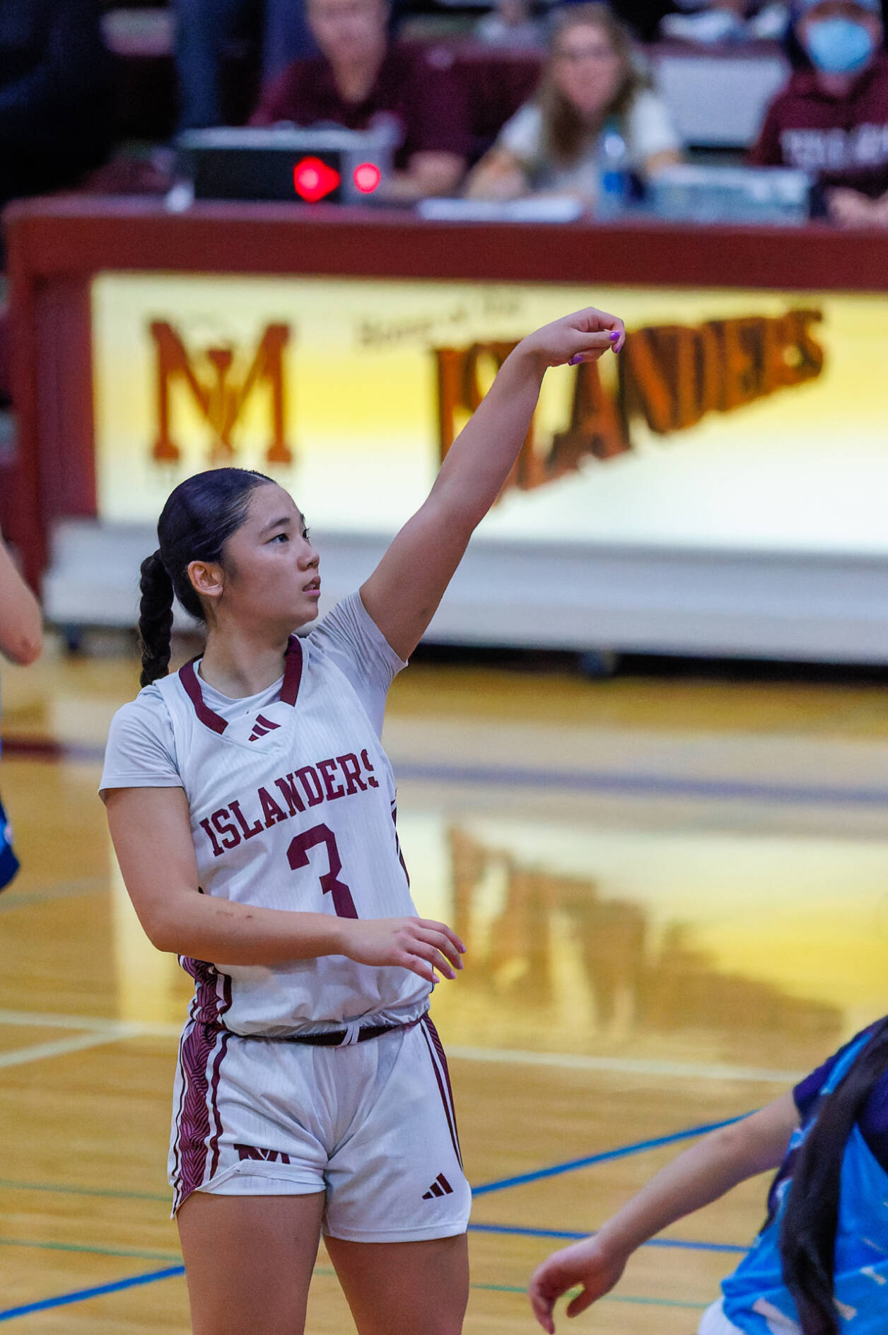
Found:
[(885, 227), (888, 56), (879, 0), (797, 0), (793, 21), (812, 68), (777, 93), (749, 162), (812, 172), (843, 227)]

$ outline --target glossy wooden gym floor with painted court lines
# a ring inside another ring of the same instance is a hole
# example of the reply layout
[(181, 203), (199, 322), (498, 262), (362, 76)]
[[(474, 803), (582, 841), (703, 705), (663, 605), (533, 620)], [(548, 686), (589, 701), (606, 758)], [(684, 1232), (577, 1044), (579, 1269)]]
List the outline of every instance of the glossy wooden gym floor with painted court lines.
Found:
[[(4, 670), (24, 869), (0, 898), (0, 1322), (183, 1335), (164, 1163), (188, 980), (114, 866), (95, 790), (136, 666), (92, 647)], [(477, 1188), (465, 1328), (530, 1331), (561, 1236), (888, 1011), (888, 694), (418, 665), (386, 741), (419, 910), (469, 945), (433, 1007)], [(644, 1248), (570, 1328), (693, 1335), (764, 1191)], [(323, 1252), (307, 1328), (353, 1330)]]

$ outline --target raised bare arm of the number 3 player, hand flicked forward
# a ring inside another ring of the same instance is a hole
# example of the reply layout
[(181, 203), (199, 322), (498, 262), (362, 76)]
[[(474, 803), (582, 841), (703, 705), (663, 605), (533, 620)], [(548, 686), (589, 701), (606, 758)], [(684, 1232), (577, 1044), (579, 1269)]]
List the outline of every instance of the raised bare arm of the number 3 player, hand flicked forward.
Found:
[(542, 378), (574, 356), (597, 360), (625, 340), (622, 320), (589, 307), (522, 339), (441, 465), (429, 499), (361, 589), (363, 605), (399, 658), (419, 643), (474, 529), (518, 458)]

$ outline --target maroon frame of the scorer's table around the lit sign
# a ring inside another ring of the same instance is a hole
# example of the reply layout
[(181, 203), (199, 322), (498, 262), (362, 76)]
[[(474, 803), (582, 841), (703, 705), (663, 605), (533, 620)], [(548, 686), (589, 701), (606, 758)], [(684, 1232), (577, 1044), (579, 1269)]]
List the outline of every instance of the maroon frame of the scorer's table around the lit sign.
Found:
[(107, 271), (884, 291), (888, 238), (807, 228), (454, 224), (377, 210), (59, 196), (4, 216), (19, 425), (11, 538), (35, 586), (53, 519), (95, 515), (89, 291)]

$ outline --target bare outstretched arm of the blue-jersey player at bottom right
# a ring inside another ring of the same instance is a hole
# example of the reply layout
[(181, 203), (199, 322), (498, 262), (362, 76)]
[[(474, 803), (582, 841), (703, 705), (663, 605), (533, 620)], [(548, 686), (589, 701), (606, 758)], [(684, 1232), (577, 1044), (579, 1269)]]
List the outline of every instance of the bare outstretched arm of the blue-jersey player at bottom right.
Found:
[(549, 1335), (562, 1294), (582, 1287), (568, 1304), (568, 1316), (585, 1312), (622, 1275), (633, 1251), (677, 1219), (724, 1196), (737, 1183), (780, 1167), (799, 1125), (792, 1093), (760, 1112), (704, 1136), (652, 1177), (597, 1234), (553, 1252), (530, 1278), (530, 1306)]

